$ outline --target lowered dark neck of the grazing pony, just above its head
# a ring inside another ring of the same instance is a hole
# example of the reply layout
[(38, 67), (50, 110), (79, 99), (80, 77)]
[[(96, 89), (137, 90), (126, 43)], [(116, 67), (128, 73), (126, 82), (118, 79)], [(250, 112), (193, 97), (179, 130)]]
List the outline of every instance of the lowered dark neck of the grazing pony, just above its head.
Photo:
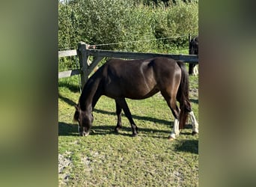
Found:
[(92, 111), (101, 95), (102, 88), (100, 86), (100, 79), (89, 79), (88, 82), (86, 82), (79, 99), (79, 105), (82, 111)]

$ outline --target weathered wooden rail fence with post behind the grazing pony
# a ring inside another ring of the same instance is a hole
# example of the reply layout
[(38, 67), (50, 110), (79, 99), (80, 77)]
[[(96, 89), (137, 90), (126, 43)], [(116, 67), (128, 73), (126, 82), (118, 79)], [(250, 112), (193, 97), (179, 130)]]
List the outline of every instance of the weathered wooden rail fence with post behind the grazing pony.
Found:
[[(159, 54), (159, 53), (143, 53), (143, 52), (115, 52), (101, 49), (91, 49), (92, 46), (80, 42), (78, 49), (59, 51), (58, 58), (78, 56), (80, 69), (68, 70), (58, 73), (58, 79), (64, 77), (70, 77), (81, 74), (82, 87), (88, 80), (88, 76), (99, 64), (103, 58), (129, 58), (129, 59), (142, 59), (142, 58), (154, 58), (154, 57), (167, 57), (173, 58), (176, 61), (184, 61), (189, 64), (198, 64), (198, 55), (172, 55), (172, 54)], [(93, 56), (93, 61), (88, 64), (89, 56)]]

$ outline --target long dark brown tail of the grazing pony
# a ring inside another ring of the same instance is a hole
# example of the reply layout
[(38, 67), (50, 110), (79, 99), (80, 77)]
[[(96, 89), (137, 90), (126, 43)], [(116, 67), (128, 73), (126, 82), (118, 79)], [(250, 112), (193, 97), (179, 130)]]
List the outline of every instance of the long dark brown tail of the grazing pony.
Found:
[(189, 101), (189, 74), (185, 64), (182, 61), (177, 61), (181, 69), (180, 87), (177, 92), (177, 100), (180, 102), (180, 125), (179, 129), (184, 129), (189, 112), (192, 111)]

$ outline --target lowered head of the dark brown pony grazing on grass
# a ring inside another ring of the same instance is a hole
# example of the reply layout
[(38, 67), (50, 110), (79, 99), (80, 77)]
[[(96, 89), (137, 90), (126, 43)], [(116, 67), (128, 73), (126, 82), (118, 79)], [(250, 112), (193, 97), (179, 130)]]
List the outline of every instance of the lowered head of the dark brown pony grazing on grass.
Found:
[(79, 123), (79, 133), (82, 136), (89, 135), (94, 116), (91, 110), (82, 111), (78, 105), (75, 105), (76, 111), (74, 114), (74, 120)]

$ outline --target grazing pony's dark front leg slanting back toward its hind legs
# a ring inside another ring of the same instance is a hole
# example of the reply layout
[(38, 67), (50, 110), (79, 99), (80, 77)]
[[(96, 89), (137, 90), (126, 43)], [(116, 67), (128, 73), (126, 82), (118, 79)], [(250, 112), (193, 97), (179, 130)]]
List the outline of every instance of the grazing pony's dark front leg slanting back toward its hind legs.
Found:
[(128, 108), (128, 105), (127, 105), (127, 102), (124, 98), (118, 98), (118, 99), (115, 99), (115, 101), (117, 102), (117, 104), (123, 108), (124, 110), (124, 114), (125, 116), (128, 118), (129, 120), (129, 123), (131, 124), (132, 126), (132, 136), (136, 136), (138, 135), (138, 127), (136, 126), (136, 124), (134, 123), (134, 121), (132, 120), (132, 114), (131, 112), (129, 111), (129, 108)]

